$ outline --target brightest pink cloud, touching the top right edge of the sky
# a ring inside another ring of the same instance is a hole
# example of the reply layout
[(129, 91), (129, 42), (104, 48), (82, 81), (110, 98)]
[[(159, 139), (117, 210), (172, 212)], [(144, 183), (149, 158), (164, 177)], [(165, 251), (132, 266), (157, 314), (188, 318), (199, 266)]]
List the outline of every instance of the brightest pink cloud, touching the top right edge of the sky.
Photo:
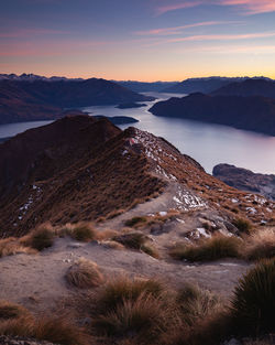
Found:
[(155, 9), (156, 15), (164, 13), (195, 8), (198, 6), (232, 6), (239, 7), (242, 10), (242, 14), (258, 14), (275, 11), (274, 0), (198, 0), (198, 1), (180, 1), (169, 3), (167, 6), (158, 6)]

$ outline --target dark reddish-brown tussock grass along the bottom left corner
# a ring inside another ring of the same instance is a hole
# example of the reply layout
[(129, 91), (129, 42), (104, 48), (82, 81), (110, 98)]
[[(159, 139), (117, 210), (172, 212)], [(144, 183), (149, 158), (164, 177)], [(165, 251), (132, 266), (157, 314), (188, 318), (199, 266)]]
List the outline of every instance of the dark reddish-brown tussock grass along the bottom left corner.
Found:
[(0, 334), (47, 341), (61, 345), (88, 345), (82, 330), (66, 317), (22, 316), (0, 322)]

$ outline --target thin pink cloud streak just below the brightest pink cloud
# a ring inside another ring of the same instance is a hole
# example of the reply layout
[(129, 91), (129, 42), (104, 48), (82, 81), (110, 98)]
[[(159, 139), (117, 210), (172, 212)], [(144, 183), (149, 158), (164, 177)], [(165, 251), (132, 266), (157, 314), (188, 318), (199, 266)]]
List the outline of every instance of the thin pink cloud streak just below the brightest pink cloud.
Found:
[(241, 22), (234, 22), (234, 21), (209, 21), (209, 22), (199, 22), (199, 23), (193, 23), (182, 26), (174, 26), (174, 28), (162, 28), (162, 29), (152, 29), (147, 31), (136, 31), (135, 34), (138, 35), (176, 35), (183, 33), (186, 29), (191, 28), (199, 28), (199, 26), (212, 26), (212, 25), (220, 25), (220, 24), (235, 24)]

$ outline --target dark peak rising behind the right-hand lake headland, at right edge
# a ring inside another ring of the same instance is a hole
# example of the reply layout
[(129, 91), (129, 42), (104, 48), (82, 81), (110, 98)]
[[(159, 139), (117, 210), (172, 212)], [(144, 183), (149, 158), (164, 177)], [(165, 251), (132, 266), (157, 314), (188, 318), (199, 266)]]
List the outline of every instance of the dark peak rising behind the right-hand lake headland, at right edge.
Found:
[(242, 83), (232, 83), (212, 93), (217, 96), (262, 96), (275, 98), (275, 82), (267, 79), (248, 79)]

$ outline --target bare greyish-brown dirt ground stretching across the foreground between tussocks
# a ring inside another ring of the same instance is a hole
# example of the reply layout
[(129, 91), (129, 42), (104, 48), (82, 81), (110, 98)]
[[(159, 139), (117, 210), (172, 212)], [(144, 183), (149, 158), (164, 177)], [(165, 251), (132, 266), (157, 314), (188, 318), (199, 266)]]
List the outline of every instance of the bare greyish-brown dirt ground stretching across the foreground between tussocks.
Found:
[(205, 265), (167, 262), (143, 252), (63, 238), (40, 255), (0, 259), (0, 299), (22, 303), (32, 311), (53, 309), (55, 302), (74, 293), (66, 285), (64, 274), (80, 257), (97, 262), (107, 279), (118, 274), (155, 277), (177, 288), (187, 281), (197, 282), (224, 298), (231, 294), (235, 282), (249, 268), (233, 260)]

